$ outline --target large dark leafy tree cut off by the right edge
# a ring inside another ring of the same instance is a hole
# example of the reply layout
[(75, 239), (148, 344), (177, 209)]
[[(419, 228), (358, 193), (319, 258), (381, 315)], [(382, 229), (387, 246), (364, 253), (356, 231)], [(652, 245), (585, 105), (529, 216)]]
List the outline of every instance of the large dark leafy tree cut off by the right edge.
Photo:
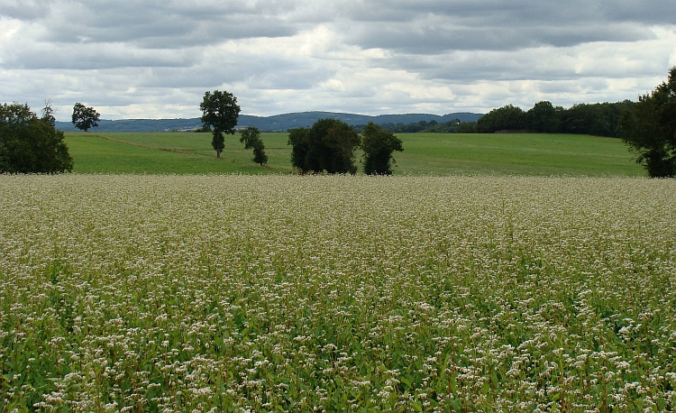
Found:
[(651, 178), (676, 176), (676, 67), (667, 83), (638, 96), (620, 120), (622, 140), (638, 153), (636, 162)]

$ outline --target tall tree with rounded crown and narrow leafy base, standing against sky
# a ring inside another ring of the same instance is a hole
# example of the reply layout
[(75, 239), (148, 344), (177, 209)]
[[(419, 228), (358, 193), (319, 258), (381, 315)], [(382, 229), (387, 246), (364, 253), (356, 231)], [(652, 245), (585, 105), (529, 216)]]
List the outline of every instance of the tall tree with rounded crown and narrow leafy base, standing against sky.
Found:
[(237, 97), (226, 91), (215, 90), (213, 94), (207, 91), (199, 109), (202, 111), (203, 129), (208, 127), (213, 131), (211, 146), (216, 151), (216, 158), (220, 159), (221, 152), (225, 149), (223, 134), (234, 134), (237, 117), (242, 110), (237, 105)]

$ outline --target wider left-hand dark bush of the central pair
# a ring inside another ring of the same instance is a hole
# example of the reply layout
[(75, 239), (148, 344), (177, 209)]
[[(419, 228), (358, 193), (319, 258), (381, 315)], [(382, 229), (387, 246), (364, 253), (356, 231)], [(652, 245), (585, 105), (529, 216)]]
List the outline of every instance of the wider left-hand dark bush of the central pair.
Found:
[(288, 131), (291, 164), (303, 173), (356, 173), (354, 151), (360, 142), (352, 126), (335, 119)]

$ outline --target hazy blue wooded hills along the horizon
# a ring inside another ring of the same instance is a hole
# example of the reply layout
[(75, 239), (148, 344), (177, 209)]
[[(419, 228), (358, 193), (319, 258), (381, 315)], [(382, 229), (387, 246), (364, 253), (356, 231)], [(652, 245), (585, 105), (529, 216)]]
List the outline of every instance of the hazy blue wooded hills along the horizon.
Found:
[[(420, 121), (436, 121), (440, 124), (460, 119), (461, 122), (474, 122), (481, 114), (455, 113), (449, 115), (407, 114), (407, 115), (353, 115), (333, 112), (301, 112), (296, 114), (251, 116), (240, 115), (238, 126), (255, 126), (261, 131), (287, 131), (291, 128), (306, 127), (323, 118), (339, 119), (346, 124), (415, 124)], [(75, 132), (78, 129), (69, 122), (57, 122), (58, 129)], [(119, 121), (102, 120), (91, 131), (99, 132), (163, 132), (195, 130), (202, 126), (199, 118), (193, 119), (122, 119)]]

